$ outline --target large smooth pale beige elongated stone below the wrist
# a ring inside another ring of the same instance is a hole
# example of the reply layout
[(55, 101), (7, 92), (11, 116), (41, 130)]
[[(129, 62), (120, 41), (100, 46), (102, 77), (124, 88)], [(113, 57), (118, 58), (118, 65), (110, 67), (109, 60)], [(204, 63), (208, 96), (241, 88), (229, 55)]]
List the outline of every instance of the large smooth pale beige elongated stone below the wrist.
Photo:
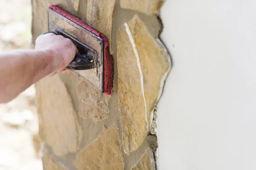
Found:
[(76, 152), (81, 140), (70, 95), (58, 75), (36, 84), (41, 138), (56, 156)]

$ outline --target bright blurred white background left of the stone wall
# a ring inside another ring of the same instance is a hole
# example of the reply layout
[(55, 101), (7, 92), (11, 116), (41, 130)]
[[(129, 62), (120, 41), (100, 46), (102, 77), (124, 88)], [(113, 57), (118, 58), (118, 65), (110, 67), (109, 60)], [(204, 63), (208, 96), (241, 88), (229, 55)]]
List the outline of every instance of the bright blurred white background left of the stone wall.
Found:
[[(0, 0), (0, 52), (31, 48), (31, 20), (30, 0)], [(0, 104), (0, 170), (42, 170), (37, 133), (31, 86), (8, 104)]]

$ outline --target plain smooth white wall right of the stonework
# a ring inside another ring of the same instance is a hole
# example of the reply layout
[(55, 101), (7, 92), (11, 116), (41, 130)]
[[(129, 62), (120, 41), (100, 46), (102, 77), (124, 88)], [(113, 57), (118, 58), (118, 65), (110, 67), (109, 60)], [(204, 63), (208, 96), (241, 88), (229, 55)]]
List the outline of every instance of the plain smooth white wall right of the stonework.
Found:
[(159, 170), (256, 170), (256, 1), (166, 0)]

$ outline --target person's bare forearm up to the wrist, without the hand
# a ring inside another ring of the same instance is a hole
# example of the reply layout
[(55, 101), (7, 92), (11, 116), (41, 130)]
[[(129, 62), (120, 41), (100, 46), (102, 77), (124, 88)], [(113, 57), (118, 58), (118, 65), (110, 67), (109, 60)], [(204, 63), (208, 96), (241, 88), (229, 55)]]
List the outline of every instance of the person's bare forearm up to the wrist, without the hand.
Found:
[(53, 72), (52, 60), (49, 53), (37, 50), (0, 54), (0, 103), (12, 100), (36, 81)]

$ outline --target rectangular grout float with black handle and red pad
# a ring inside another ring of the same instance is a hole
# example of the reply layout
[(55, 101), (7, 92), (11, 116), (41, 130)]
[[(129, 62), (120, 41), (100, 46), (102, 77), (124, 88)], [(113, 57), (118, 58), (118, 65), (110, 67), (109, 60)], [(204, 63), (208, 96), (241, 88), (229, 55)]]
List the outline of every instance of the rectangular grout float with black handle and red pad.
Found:
[(113, 59), (107, 38), (84, 21), (53, 5), (48, 8), (48, 29), (72, 40), (79, 51), (66, 68), (73, 69), (75, 75), (111, 95)]

